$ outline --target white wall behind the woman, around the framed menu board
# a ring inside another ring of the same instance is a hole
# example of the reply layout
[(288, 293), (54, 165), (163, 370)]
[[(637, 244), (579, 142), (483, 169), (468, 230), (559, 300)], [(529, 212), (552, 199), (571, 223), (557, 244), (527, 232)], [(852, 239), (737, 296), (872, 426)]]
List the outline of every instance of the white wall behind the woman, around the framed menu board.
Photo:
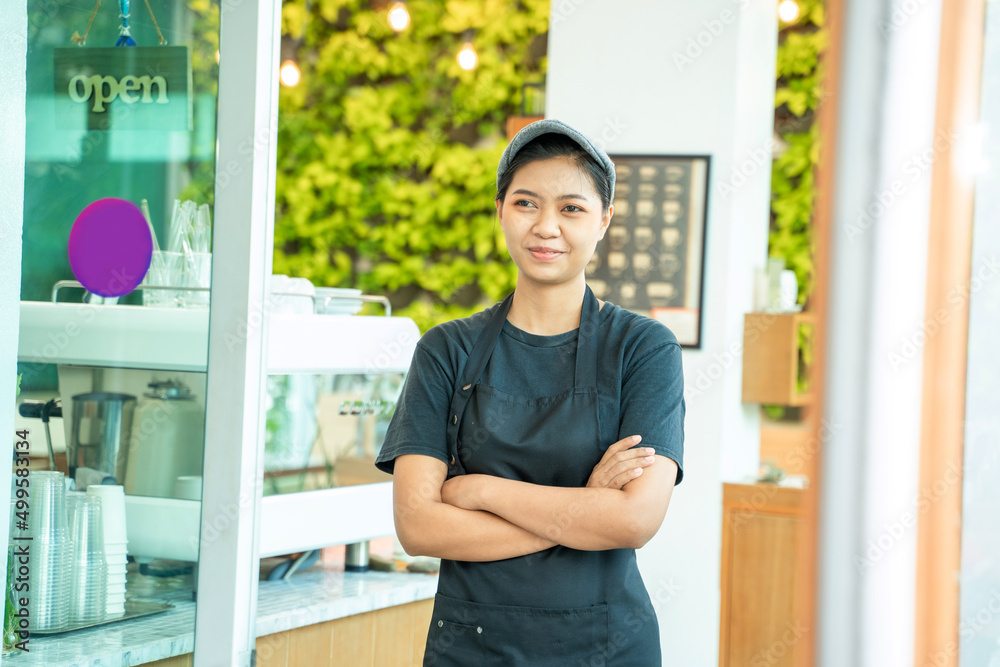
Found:
[(722, 482), (758, 466), (741, 346), (767, 254), (776, 48), (774, 0), (552, 3), (546, 116), (612, 155), (712, 156), (702, 348), (684, 352), (685, 479), (639, 553), (671, 665), (718, 662)]

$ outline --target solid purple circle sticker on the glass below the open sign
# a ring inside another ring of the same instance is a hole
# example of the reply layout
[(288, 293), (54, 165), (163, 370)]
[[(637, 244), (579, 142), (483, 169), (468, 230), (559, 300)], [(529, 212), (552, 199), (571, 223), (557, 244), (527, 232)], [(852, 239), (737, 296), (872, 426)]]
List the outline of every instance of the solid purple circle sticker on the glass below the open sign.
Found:
[(153, 237), (132, 202), (108, 197), (83, 209), (69, 233), (69, 265), (88, 292), (124, 296), (149, 270)]

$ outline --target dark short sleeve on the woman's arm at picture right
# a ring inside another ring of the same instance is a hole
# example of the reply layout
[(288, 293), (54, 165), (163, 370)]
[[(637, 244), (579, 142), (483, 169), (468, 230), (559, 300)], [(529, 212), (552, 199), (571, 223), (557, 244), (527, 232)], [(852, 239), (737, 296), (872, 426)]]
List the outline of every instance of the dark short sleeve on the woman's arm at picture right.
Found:
[(622, 374), (618, 437), (641, 435), (640, 447), (652, 447), (657, 454), (676, 461), (676, 484), (680, 484), (684, 478), (685, 412), (681, 347), (666, 327), (662, 332), (657, 328), (646, 332), (644, 338), (652, 342), (636, 350)]

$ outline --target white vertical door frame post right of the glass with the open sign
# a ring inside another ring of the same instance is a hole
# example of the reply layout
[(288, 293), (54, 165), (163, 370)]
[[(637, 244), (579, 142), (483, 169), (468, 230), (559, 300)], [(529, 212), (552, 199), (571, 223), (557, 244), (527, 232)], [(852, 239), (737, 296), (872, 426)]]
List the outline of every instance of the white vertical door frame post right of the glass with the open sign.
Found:
[(249, 665), (256, 638), (280, 11), (221, 7), (197, 667)]

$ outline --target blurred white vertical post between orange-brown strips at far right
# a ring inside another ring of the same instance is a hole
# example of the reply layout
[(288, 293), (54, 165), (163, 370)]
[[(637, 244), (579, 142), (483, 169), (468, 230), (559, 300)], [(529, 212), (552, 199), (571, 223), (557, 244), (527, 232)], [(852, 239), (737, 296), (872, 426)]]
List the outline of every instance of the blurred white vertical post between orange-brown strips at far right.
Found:
[(913, 664), (940, 3), (848, 2), (839, 85), (817, 664)]

